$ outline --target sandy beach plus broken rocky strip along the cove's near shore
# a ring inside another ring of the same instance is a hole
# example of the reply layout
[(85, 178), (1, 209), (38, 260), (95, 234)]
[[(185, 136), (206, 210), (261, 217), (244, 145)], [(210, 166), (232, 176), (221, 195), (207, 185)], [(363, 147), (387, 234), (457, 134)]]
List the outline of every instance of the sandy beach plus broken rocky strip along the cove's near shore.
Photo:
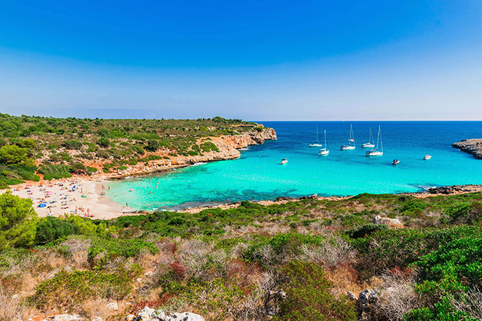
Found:
[[(189, 166), (189, 165), (187, 165)], [(149, 175), (149, 174), (147, 174)], [(105, 183), (112, 180), (103, 174), (96, 176), (72, 176), (60, 180), (43, 182), (25, 182), (12, 186), (11, 189), (1, 189), (0, 194), (11, 191), (13, 195), (21, 198), (30, 198), (34, 210), (39, 217), (59, 217), (65, 214), (73, 214), (92, 219), (109, 220), (119, 216), (129, 216), (138, 214), (149, 214), (153, 211), (136, 210), (124, 207), (114, 200), (103, 195)], [(392, 195), (415, 196), (416, 198), (427, 198), (443, 195), (468, 194), (482, 191), (482, 185), (453, 185), (443, 187), (431, 187), (424, 191), (402, 192)], [(351, 196), (301, 196), (299, 198), (277, 197), (275, 200), (258, 200), (251, 203), (269, 206), (273, 204), (284, 204), (297, 202), (300, 200), (344, 200)], [(45, 203), (45, 207), (39, 207)], [(198, 207), (188, 207), (185, 209), (166, 209), (167, 211), (177, 211), (180, 213), (196, 214), (204, 209), (230, 209), (239, 207), (241, 201), (233, 203), (219, 203), (216, 205), (206, 205)]]

